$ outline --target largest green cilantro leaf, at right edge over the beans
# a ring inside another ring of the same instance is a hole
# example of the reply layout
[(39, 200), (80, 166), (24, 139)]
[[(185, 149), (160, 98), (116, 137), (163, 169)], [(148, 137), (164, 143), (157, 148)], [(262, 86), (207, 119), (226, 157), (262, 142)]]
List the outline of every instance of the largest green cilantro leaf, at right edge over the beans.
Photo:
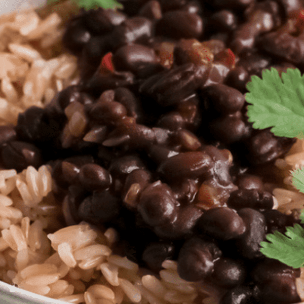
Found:
[(304, 75), (297, 68), (287, 69), (281, 77), (273, 67), (264, 69), (262, 79), (253, 75), (247, 89), (247, 115), (253, 128), (272, 127), (276, 136), (303, 137)]

